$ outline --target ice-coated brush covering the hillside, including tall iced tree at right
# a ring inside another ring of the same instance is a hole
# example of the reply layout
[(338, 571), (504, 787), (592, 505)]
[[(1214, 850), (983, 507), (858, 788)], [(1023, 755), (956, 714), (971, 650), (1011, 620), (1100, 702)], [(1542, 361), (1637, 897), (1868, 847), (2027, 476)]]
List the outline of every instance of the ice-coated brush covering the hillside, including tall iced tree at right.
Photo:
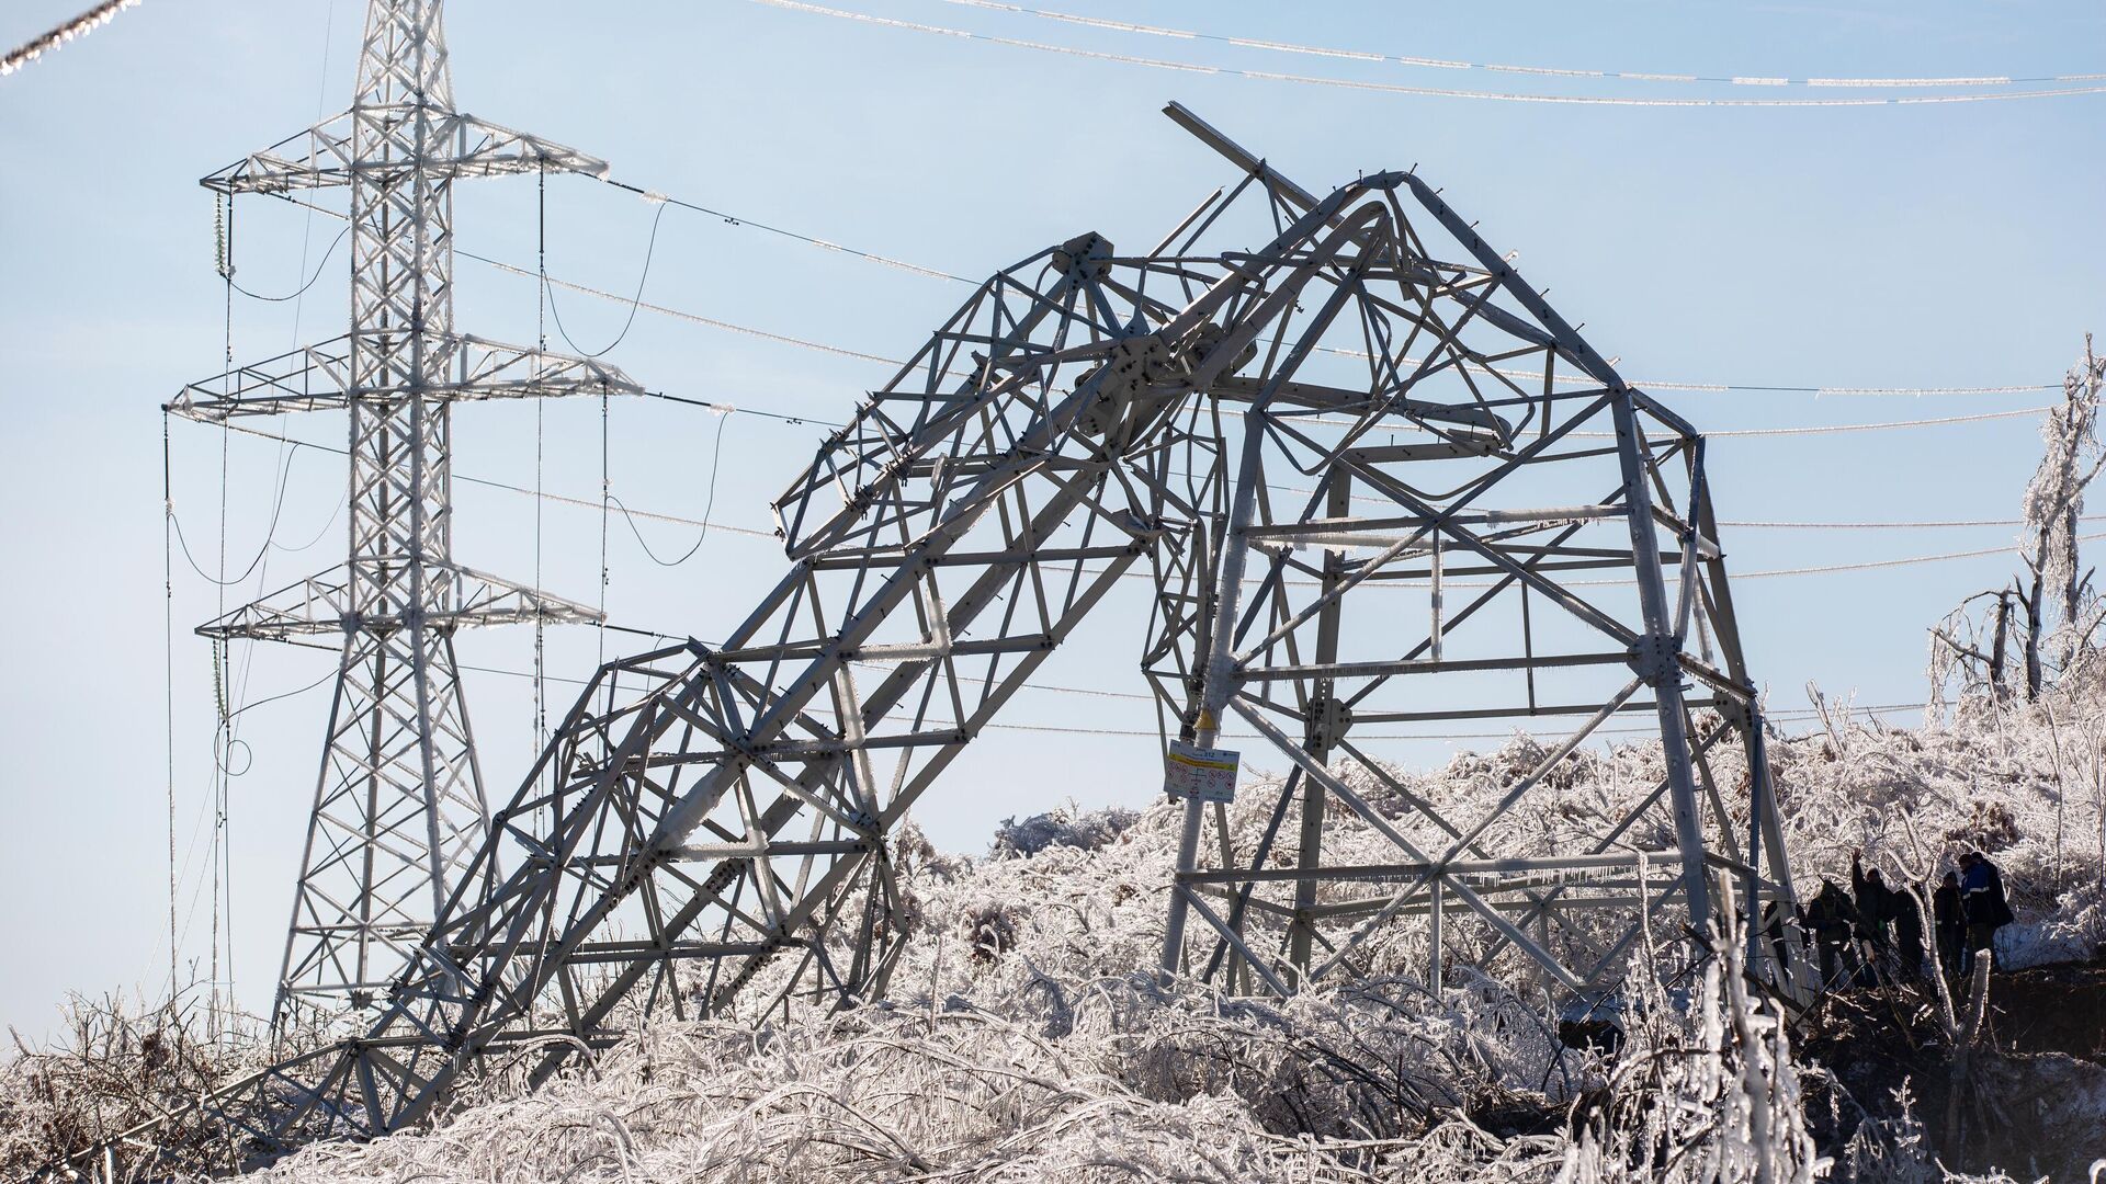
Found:
[[(1914, 887), (1986, 851), (2018, 912), (1999, 933), (2015, 978), (1984, 965), (1950, 988), (1841, 992), (1786, 1026), (1740, 973), (1735, 933), (1712, 935), (1723, 956), (1700, 980), (1662, 984), (1672, 963), (1649, 929), (1613, 1049), (1563, 1030), (1552, 994), (1506, 973), (1512, 954), (1497, 980), (1472, 969), (1485, 946), (1468, 925), (1447, 935), (1438, 990), (1424, 986), (1415, 925), (1384, 929), (1350, 973), (1289, 1001), (1165, 986), (1141, 967), (1158, 954), (1177, 811), (1070, 807), (1005, 822), (984, 860), (897, 836), (912, 940), (882, 1001), (659, 1020), (537, 1091), (499, 1070), (430, 1129), (312, 1146), (267, 1178), (1916, 1184), (1961, 1167), (2011, 1180), (2003, 1167), (2083, 1180), (2106, 1157), (2106, 967), (2055, 982), (2022, 967), (2106, 946), (2106, 603), (2077, 535), (2106, 466), (2102, 386), (2087, 348), (2024, 499), (2026, 571), (1933, 630), (1923, 725), (1815, 693), (1820, 725), (1769, 744), (1803, 895), (1845, 879), (1860, 849)], [(1411, 828), (1413, 801), (1476, 817), (1544, 756), (1516, 735), (1443, 769), (1352, 777)], [(1649, 744), (1573, 752), (1546, 777), (1550, 809), (1504, 815), (1487, 838), (1569, 853), (1660, 773)], [(1735, 784), (1742, 769), (1721, 752), (1714, 773)], [(1230, 807), (1238, 849), (1255, 847), (1274, 796)], [(1647, 849), (1670, 838), (1628, 834)], [(1356, 862), (1390, 845), (1337, 815), (1325, 849)], [(2058, 1013), (2003, 1037), (1999, 992)], [(177, 1007), (76, 1003), (57, 1045), (17, 1041), (0, 1066), (0, 1176), (162, 1114), (177, 1114), (154, 1133), (173, 1159), (232, 1163), (240, 1148), (183, 1114), (284, 1047), (242, 1032), (200, 1034)], [(2058, 1039), (2077, 1045), (2041, 1051)], [(124, 1176), (152, 1150), (124, 1144), (107, 1163)]]

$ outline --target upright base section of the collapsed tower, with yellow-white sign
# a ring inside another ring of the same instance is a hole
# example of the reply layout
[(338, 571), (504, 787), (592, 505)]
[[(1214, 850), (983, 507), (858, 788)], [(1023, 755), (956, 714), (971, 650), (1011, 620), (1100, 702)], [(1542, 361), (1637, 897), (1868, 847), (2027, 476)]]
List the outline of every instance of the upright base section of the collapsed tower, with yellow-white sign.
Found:
[[(1240, 430), (1190, 436), (1188, 499), (1215, 514), (1165, 569), (1144, 664), (1184, 706), (1184, 739), (1207, 748), (1236, 721), (1291, 775), (1251, 849), (1232, 847), (1221, 805), (1203, 841), (1207, 803), (1186, 803), (1165, 969), (1285, 994), (1350, 973), (1365, 940), (1415, 914), (1434, 984), (1447, 921), (1476, 929), (1478, 961), (1512, 948), (1584, 990), (1617, 978), (1647, 910), (1702, 933), (1721, 872), (1742, 902), (1788, 902), (1702, 436), (1415, 175), (1318, 202), (1171, 114), (1264, 185), (1278, 221), (1320, 230), (1293, 255), (1304, 278), (1276, 293), (1261, 360), (1211, 386), (1224, 413), (1243, 400)], [(1584, 847), (1529, 853), (1531, 820), (1561, 809), (1561, 763), (1626, 712), (1657, 725), (1657, 788)], [(1571, 733), (1481, 813), (1422, 798), (1356, 737), (1558, 716)], [(1714, 771), (1721, 746), (1740, 748), (1737, 786)], [(1327, 813), (1379, 832), (1386, 855), (1337, 864)]]

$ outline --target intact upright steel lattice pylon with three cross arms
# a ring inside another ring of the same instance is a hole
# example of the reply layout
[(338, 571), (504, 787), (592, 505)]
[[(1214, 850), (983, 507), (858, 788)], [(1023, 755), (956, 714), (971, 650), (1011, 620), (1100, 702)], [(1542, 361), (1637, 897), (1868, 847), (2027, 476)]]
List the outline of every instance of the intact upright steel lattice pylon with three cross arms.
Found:
[(350, 112), (202, 181), (230, 200), (350, 192), (350, 333), (192, 383), (171, 402), (204, 421), (350, 415), (350, 558), (198, 630), (343, 638), (278, 1022), (297, 1005), (377, 1003), (484, 845), (455, 630), (598, 619), (453, 558), (455, 402), (638, 390), (613, 367), (453, 324), (453, 181), (537, 171), (600, 175), (607, 164), (457, 112), (440, 2), (373, 0)]

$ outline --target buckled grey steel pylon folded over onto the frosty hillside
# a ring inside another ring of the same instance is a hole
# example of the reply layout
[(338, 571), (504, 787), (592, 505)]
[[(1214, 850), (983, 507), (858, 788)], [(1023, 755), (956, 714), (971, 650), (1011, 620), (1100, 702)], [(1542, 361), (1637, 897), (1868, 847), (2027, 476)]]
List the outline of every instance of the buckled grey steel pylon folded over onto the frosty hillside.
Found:
[[(388, 1009), (213, 1098), (261, 1157), (419, 1123), (486, 1058), (543, 1081), (653, 1013), (882, 996), (895, 828), (1127, 579), (1169, 765), (1234, 767), (1234, 716), (1295, 769), (1238, 807), (1268, 820), (1243, 849), (1226, 803), (1200, 843), (1221, 777), (1171, 777), (1167, 971), (1289, 994), (1419, 931), (1434, 975), (1577, 992), (1647, 914), (1700, 946), (1727, 887), (1790, 900), (1702, 438), (1413, 173), (1316, 198), (1169, 114), (1234, 190), (1150, 251), (1082, 234), (984, 282), (777, 499), (792, 563), (752, 615), (598, 672)], [(1660, 786), (1516, 857), (1622, 712), (1657, 725)], [(1582, 723), (1483, 817), (1356, 731), (1527, 716)], [(1342, 857), (1335, 813), (1390, 857)]]

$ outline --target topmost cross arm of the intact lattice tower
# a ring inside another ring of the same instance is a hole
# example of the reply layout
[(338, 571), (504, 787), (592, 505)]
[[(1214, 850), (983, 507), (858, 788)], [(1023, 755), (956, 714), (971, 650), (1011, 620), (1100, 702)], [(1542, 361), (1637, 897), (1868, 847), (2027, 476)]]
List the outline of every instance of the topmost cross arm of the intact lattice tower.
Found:
[[(358, 122), (396, 131), (409, 120), (428, 118), (425, 156), (381, 154), (360, 158)], [(503, 177), (512, 173), (583, 173), (604, 177), (607, 162), (575, 147), (508, 129), (465, 112), (449, 112), (423, 103), (362, 105), (200, 179), (221, 194), (289, 194), (293, 190), (329, 190), (350, 185), (360, 173), (400, 173), (406, 169), (436, 171), (446, 177)]]

